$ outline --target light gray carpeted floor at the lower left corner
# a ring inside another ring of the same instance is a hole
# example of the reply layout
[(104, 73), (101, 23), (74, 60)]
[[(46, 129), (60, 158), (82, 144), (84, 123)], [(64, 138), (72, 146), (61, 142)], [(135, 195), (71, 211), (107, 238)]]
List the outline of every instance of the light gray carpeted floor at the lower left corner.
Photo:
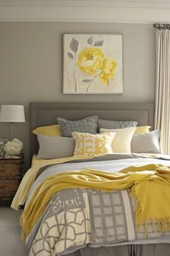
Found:
[(19, 217), (21, 211), (0, 207), (0, 256), (28, 256), (20, 240)]

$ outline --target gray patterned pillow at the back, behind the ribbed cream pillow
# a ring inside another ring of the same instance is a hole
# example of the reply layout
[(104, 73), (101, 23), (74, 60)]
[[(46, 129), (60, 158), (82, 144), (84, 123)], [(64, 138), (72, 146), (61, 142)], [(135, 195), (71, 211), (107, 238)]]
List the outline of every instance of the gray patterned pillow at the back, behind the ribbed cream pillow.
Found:
[(123, 129), (127, 127), (136, 127), (138, 125), (137, 121), (112, 121), (99, 119), (98, 120), (99, 129)]

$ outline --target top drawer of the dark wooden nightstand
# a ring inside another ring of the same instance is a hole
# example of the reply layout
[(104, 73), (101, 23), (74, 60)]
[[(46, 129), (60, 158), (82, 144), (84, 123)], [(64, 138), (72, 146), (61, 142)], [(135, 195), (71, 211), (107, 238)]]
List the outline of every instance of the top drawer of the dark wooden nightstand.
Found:
[(20, 165), (16, 163), (0, 163), (0, 177), (20, 175)]

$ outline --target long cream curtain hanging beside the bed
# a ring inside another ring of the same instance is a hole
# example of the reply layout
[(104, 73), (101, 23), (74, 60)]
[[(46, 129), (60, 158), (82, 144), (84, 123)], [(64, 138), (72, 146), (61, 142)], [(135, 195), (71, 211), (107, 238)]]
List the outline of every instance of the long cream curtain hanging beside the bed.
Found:
[(170, 31), (156, 29), (155, 129), (161, 130), (161, 152), (170, 155)]

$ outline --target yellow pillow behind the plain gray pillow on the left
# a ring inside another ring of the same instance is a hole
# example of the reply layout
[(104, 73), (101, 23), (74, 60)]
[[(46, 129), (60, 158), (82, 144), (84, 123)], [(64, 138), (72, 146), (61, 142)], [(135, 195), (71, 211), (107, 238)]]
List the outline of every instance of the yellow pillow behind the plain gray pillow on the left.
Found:
[(48, 125), (47, 127), (37, 127), (32, 131), (35, 135), (46, 135), (51, 137), (62, 137), (61, 127), (58, 124)]

